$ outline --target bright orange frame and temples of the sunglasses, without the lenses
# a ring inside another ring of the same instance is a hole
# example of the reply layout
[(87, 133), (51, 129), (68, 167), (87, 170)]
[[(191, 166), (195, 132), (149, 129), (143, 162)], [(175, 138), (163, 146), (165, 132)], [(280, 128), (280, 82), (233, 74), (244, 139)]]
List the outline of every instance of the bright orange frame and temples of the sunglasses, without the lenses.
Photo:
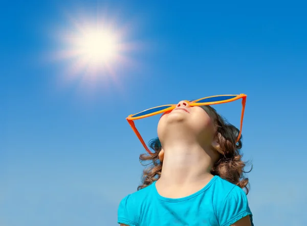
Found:
[[(195, 102), (198, 102), (198, 101), (200, 101), (202, 99), (207, 99), (207, 98), (217, 97), (217, 96), (235, 96), (235, 97), (227, 99), (227, 100), (224, 100), (224, 101), (206, 102), (206, 103), (195, 103)], [(203, 97), (203, 98), (200, 98), (200, 99), (196, 99), (195, 101), (191, 101), (191, 102), (189, 102), (189, 105), (191, 107), (206, 106), (206, 105), (218, 105), (218, 104), (224, 104), (224, 103), (233, 102), (233, 101), (236, 101), (237, 99), (242, 98), (242, 113), (241, 113), (241, 120), (240, 120), (240, 131), (239, 131), (238, 138), (236, 140), (236, 142), (237, 142), (237, 141), (239, 141), (239, 139), (241, 137), (242, 125), (243, 125), (243, 117), (244, 117), (244, 110), (245, 110), (245, 104), (246, 104), (246, 97), (247, 97), (246, 94), (207, 96), (207, 97)], [(169, 106), (169, 105), (161, 105), (161, 106), (157, 106), (157, 107), (154, 107), (154, 108), (163, 107), (163, 106)], [(148, 152), (149, 154), (153, 154), (153, 153), (149, 150), (149, 148), (147, 147), (146, 143), (144, 142), (141, 134), (137, 130), (136, 125), (134, 123), (134, 120), (138, 120), (138, 119), (141, 119), (141, 118), (146, 118), (146, 117), (150, 117), (150, 116), (153, 116), (153, 115), (158, 115), (158, 114), (161, 114), (161, 113), (169, 112), (169, 111), (172, 111), (174, 108), (176, 108), (176, 106), (177, 106), (177, 104), (170, 105), (169, 108), (165, 108), (165, 109), (157, 111), (157, 112), (152, 112), (152, 113), (149, 113), (149, 114), (146, 114), (146, 115), (141, 115), (141, 116), (138, 116), (138, 117), (133, 117), (134, 115), (137, 115), (137, 114), (141, 113), (141, 112), (139, 112), (139, 113), (136, 113), (136, 114), (129, 115), (126, 118), (126, 120), (128, 121), (130, 127), (133, 129), (133, 131), (135, 132), (135, 134), (137, 135), (137, 137), (139, 138), (139, 140), (141, 141), (141, 143), (145, 147), (146, 152)], [(150, 110), (150, 109), (153, 109), (153, 108), (149, 108), (149, 109), (146, 109), (144, 111), (147, 111), (147, 110)]]

